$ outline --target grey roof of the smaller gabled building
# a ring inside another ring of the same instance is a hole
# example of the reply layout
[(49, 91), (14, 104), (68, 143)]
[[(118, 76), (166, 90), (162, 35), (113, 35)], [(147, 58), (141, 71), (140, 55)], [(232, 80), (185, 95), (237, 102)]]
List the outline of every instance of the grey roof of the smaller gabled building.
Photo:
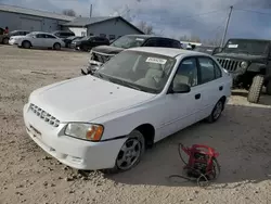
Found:
[(144, 34), (142, 30), (140, 30), (138, 27), (136, 27), (131, 23), (127, 22), (121, 16), (76, 17), (73, 21), (70, 21), (68, 23), (64, 23), (62, 25), (69, 26), (69, 27), (73, 27), (73, 26), (74, 27), (86, 27), (88, 25), (98, 24), (98, 23), (102, 23), (105, 21), (109, 21), (109, 20), (120, 20), (120, 21), (125, 22), (126, 24), (128, 24), (129, 26), (131, 26), (132, 28), (134, 28), (136, 30), (138, 30), (140, 34)]

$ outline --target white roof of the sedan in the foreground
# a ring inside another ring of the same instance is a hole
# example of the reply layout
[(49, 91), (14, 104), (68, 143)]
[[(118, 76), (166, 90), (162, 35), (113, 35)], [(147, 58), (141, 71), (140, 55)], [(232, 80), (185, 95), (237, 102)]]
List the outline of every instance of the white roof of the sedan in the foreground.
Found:
[(130, 48), (128, 50), (131, 51), (140, 51), (140, 52), (150, 52), (154, 54), (162, 54), (170, 58), (176, 58), (178, 55), (207, 55), (202, 52), (191, 51), (191, 50), (184, 50), (184, 49), (177, 49), (177, 48), (159, 48), (159, 47), (137, 47), (137, 48)]

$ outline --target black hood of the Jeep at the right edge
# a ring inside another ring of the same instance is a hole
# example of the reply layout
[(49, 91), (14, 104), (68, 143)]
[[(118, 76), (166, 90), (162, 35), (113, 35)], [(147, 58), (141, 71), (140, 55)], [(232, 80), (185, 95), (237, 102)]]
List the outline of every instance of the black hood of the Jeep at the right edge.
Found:
[(244, 53), (218, 53), (215, 58), (228, 58), (228, 59), (236, 59), (244, 61), (264, 61), (267, 56), (264, 55), (253, 55), (253, 54), (244, 54)]

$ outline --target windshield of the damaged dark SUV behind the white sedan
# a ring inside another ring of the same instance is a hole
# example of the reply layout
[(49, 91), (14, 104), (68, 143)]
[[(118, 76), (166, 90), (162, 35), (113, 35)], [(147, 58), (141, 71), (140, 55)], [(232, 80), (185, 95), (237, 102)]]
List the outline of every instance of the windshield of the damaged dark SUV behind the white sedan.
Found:
[(114, 42), (112, 42), (111, 46), (128, 49), (128, 48), (140, 47), (144, 43), (144, 41), (145, 41), (145, 38), (142, 38), (142, 37), (122, 36), (118, 38), (117, 40), (115, 40)]

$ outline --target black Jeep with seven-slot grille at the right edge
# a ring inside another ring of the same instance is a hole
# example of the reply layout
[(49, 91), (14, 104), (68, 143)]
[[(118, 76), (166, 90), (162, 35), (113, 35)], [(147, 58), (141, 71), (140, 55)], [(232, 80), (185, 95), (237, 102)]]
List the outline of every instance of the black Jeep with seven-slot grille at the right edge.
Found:
[(271, 94), (271, 41), (229, 39), (215, 58), (233, 76), (233, 88), (248, 90), (247, 100), (258, 103), (261, 89)]

